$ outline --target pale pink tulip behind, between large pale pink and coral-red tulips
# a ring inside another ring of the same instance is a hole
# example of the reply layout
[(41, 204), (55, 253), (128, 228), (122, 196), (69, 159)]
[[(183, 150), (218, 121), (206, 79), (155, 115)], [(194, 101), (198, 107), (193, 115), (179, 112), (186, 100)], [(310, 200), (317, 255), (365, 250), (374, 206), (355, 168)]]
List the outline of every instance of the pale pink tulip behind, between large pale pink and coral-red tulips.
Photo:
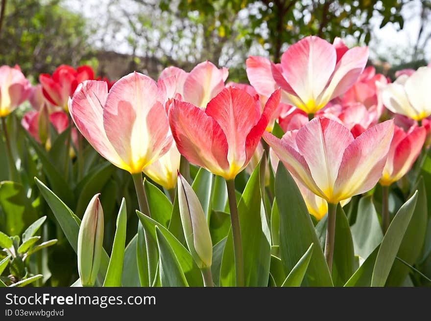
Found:
[(205, 61), (197, 64), (189, 73), (178, 67), (165, 68), (159, 79), (175, 76), (176, 92), (183, 100), (205, 108), (208, 102), (223, 90), (228, 75), (227, 68), (218, 69), (215, 64)]

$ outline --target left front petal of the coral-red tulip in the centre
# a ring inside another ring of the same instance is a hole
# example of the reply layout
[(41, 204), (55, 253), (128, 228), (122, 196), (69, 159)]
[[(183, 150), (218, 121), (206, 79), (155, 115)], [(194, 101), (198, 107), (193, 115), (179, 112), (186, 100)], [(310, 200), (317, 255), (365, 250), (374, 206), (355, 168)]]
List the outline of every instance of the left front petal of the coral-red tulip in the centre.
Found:
[(215, 119), (199, 107), (176, 99), (168, 119), (179, 152), (192, 164), (220, 176), (229, 171), (226, 135)]

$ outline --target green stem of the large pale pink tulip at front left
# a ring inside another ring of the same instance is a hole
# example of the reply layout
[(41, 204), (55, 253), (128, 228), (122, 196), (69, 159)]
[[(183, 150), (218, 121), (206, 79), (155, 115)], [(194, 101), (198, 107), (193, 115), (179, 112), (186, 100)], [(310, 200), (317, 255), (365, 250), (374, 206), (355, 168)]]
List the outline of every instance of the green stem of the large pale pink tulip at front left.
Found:
[[(135, 184), (136, 196), (138, 196), (139, 210), (141, 213), (151, 217), (150, 208), (148, 206), (148, 201), (145, 194), (144, 189), (144, 181), (142, 179), (142, 173), (134, 173), (132, 174), (133, 183)], [(146, 247), (146, 255), (148, 260), (148, 283), (151, 286), (153, 277), (156, 274), (155, 267), (157, 266), (157, 253), (154, 251), (155, 244), (152, 239), (149, 237), (148, 233), (144, 230), (145, 236), (145, 247)]]

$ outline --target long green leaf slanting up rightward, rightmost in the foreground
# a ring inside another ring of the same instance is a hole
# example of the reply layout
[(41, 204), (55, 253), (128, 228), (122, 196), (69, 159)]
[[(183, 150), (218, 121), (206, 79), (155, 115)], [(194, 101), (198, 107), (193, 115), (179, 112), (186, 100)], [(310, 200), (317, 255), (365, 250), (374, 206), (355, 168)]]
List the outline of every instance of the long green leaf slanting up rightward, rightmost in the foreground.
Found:
[(401, 241), (406, 233), (408, 223), (413, 215), (418, 198), (418, 191), (411, 196), (407, 202), (398, 210), (389, 225), (380, 245), (374, 264), (371, 286), (384, 286), (389, 272), (397, 256)]

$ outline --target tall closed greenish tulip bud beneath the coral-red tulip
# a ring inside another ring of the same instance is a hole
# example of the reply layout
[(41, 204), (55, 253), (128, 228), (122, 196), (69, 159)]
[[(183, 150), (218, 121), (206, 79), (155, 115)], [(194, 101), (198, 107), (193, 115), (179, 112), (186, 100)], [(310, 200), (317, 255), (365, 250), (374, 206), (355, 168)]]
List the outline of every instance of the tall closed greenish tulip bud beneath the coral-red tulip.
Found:
[(178, 200), (184, 236), (200, 269), (210, 267), (213, 243), (202, 206), (187, 180), (178, 173)]

